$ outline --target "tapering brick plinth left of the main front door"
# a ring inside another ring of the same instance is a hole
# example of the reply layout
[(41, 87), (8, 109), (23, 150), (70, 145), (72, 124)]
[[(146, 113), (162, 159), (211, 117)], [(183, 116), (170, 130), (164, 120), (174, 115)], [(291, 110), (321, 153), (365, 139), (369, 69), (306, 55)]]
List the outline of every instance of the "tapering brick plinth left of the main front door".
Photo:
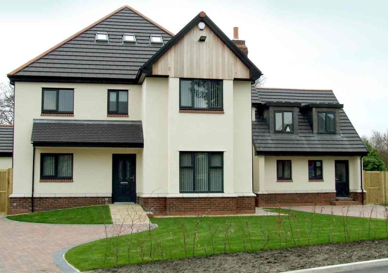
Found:
[[(108, 203), (112, 202), (111, 197), (35, 197), (33, 198), (33, 210), (45, 211), (52, 209), (104, 205), (105, 198), (108, 198)], [(31, 197), (10, 198), (9, 214), (27, 212), (31, 212)]]

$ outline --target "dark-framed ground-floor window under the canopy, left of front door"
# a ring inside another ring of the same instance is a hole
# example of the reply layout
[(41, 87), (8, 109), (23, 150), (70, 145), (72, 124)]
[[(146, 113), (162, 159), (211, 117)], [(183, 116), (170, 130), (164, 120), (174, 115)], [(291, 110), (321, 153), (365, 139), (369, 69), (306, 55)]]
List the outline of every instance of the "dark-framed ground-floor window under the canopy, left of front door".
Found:
[(73, 154), (41, 154), (41, 179), (72, 179)]

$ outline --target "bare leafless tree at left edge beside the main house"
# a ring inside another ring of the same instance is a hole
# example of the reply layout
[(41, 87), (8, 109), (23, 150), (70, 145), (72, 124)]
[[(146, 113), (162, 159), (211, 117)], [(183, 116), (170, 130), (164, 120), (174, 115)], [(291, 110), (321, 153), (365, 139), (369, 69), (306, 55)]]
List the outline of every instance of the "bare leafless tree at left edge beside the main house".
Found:
[(14, 123), (15, 89), (10, 83), (0, 83), (0, 124)]

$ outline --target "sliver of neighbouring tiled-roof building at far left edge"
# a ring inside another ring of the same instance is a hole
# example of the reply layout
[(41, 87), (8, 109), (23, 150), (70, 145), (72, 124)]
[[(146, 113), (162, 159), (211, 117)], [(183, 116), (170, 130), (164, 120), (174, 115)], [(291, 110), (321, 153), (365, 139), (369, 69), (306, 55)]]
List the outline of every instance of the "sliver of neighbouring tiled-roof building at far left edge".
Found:
[(0, 125), (0, 170), (12, 168), (12, 146), (14, 127), (8, 124)]

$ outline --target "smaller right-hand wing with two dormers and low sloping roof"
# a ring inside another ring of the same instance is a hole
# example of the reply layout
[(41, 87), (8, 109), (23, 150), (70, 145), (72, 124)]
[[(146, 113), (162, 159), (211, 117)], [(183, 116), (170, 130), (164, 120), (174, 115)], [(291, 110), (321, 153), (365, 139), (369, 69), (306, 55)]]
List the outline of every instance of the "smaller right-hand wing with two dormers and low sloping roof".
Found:
[(252, 88), (257, 206), (361, 204), (368, 150), (331, 90)]

